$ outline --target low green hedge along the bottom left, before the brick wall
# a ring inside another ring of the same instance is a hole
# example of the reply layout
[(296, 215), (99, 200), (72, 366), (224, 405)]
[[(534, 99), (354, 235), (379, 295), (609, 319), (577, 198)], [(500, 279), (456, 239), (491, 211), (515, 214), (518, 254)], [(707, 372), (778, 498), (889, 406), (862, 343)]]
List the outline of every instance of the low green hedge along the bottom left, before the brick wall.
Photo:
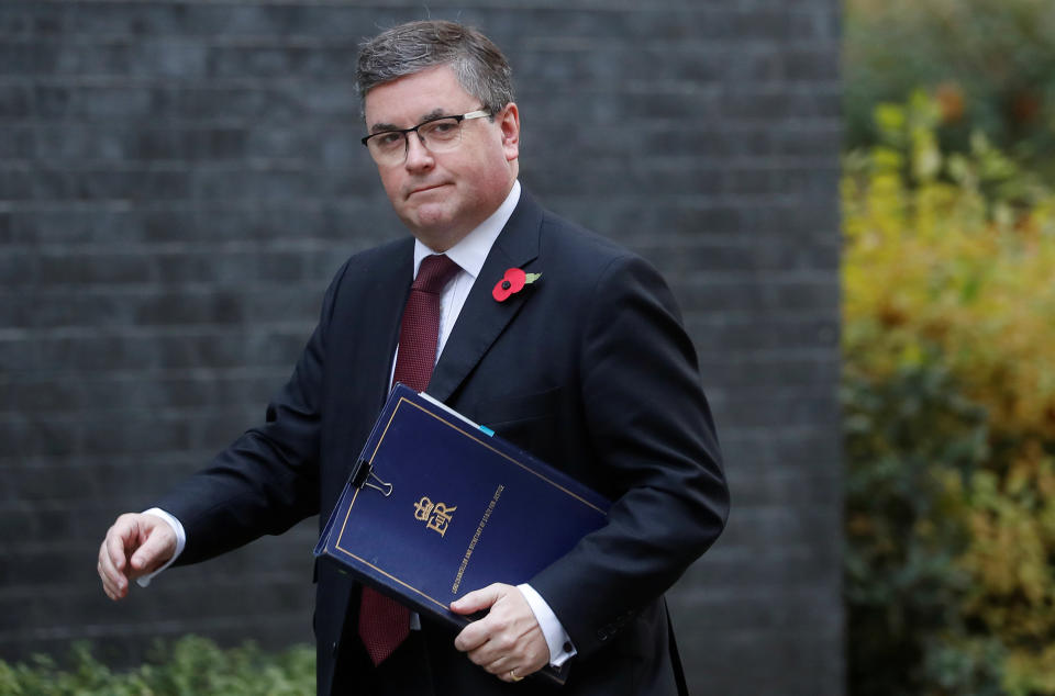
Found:
[(137, 669), (115, 672), (76, 643), (64, 665), (47, 656), (0, 661), (2, 696), (308, 696), (315, 693), (315, 651), (267, 653), (255, 643), (221, 650), (195, 636), (155, 643)]

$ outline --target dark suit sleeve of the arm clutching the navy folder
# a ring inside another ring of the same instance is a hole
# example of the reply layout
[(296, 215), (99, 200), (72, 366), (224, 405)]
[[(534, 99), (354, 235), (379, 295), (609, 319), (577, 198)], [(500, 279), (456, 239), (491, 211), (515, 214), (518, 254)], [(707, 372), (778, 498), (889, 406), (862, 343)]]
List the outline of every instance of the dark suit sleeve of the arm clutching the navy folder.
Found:
[(531, 581), (584, 656), (669, 588), (729, 513), (696, 351), (663, 279), (638, 258), (617, 258), (587, 306), (586, 424), (599, 475), (622, 493), (606, 527)]

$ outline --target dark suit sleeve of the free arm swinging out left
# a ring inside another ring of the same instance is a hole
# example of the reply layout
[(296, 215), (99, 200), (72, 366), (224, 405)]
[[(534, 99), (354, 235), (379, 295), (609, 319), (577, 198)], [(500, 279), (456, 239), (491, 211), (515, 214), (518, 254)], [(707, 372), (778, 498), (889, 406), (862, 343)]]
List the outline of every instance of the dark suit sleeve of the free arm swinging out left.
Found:
[(156, 503), (187, 530), (177, 564), (281, 534), (319, 512), (325, 334), (343, 273), (344, 268), (327, 290), (320, 322), (289, 381), (268, 404), (264, 425), (247, 430)]

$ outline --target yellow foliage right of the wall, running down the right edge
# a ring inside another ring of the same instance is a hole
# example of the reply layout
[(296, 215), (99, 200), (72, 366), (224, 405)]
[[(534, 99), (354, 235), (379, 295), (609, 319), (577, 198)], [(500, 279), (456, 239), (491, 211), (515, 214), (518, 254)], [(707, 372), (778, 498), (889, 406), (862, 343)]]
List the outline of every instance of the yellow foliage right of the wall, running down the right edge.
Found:
[(875, 378), (937, 357), (989, 413), (960, 494), (964, 618), (1007, 649), (1010, 694), (1055, 694), (1055, 194), (981, 137), (945, 157), (937, 106), (886, 106), (887, 144), (846, 160), (843, 348)]

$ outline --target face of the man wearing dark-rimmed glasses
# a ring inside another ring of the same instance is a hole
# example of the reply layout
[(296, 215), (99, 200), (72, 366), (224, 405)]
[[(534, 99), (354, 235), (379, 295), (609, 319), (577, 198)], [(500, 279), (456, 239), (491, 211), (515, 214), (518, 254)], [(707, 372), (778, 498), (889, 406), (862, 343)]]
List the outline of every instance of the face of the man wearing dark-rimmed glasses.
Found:
[[(375, 87), (366, 94), (370, 133), (410, 128), (440, 115), (481, 108), (458, 83), (454, 71), (437, 66)], [(462, 122), (462, 142), (453, 150), (432, 153), (408, 134), (407, 159), (378, 165), (385, 192), (411, 233), (434, 251), (446, 251), (493, 213), (517, 178), (520, 117), (507, 104), (495, 122)]]

